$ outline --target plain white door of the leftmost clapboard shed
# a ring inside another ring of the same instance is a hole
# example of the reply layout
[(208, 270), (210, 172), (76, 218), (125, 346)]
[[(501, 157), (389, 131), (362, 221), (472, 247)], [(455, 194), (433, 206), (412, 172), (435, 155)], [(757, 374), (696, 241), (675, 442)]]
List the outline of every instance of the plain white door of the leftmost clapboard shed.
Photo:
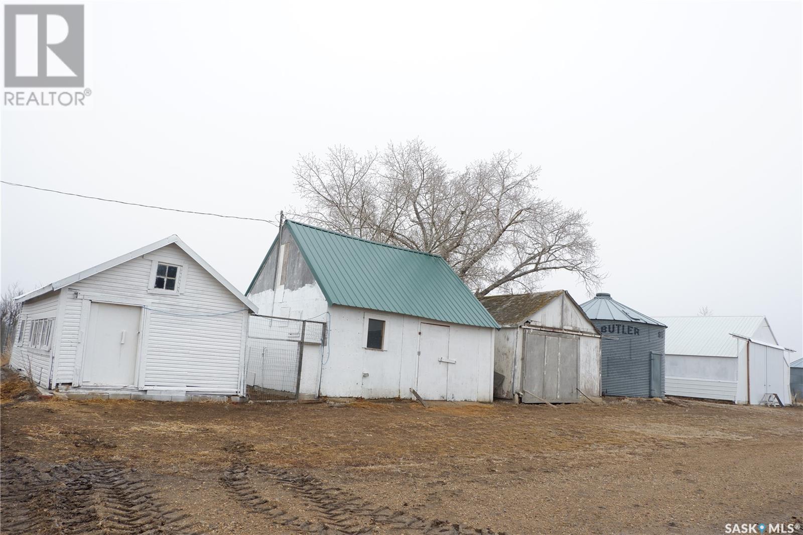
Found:
[(84, 384), (133, 386), (142, 308), (92, 303), (89, 308)]

